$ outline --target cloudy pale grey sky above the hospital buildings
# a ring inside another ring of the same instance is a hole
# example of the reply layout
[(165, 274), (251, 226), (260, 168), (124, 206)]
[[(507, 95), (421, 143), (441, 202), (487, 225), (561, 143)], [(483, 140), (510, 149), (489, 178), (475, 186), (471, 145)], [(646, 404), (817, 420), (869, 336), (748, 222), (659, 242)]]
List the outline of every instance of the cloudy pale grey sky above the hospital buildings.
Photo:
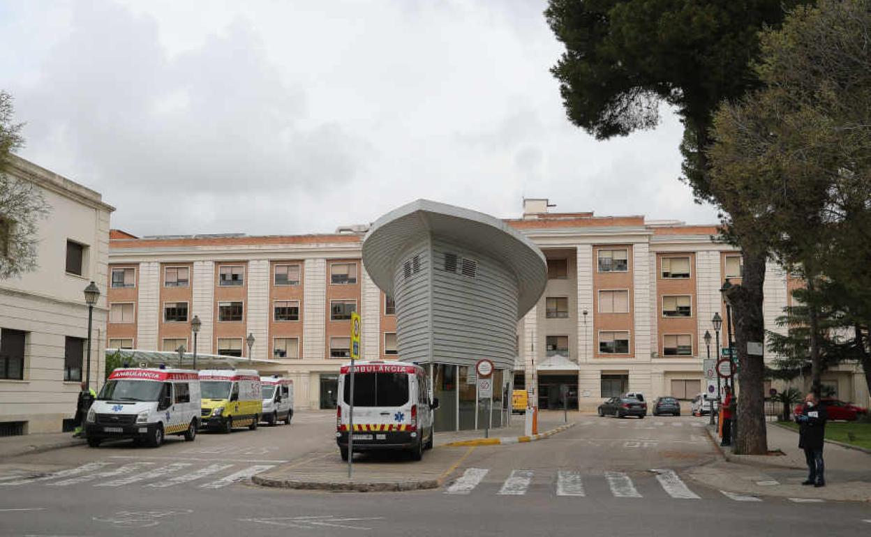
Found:
[(20, 154), (137, 235), (332, 232), (415, 198), (711, 223), (681, 127), (565, 119), (537, 0), (0, 0)]

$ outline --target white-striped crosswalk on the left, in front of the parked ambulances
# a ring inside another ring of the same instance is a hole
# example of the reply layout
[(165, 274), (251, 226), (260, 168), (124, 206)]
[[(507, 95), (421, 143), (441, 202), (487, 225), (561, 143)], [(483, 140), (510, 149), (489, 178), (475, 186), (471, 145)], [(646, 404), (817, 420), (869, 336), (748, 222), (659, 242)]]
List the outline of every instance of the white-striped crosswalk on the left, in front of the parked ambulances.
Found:
[[(206, 467), (195, 468), (193, 462), (185, 461), (169, 463), (96, 461), (51, 473), (16, 472), (10, 475), (0, 475), (0, 490), (30, 485), (117, 489), (121, 487), (165, 488), (185, 484), (215, 489), (250, 480), (254, 475), (266, 472), (273, 467), (275, 467), (274, 464), (215, 462)], [(222, 473), (226, 473), (226, 475), (222, 475)]]

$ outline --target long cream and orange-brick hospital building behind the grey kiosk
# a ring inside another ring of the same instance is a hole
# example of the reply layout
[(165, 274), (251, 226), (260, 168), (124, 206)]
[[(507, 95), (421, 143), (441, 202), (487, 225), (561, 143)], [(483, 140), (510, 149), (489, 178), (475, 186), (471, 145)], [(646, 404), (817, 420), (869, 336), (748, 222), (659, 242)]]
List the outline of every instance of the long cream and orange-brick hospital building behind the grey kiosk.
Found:
[[(742, 270), (739, 252), (712, 239), (715, 226), (552, 213), (544, 199), (525, 200), (523, 216), (503, 223), (544, 252), (548, 272), (544, 294), (517, 323), (515, 388), (535, 383), (543, 408), (594, 408), (629, 390), (692, 399), (706, 388), (704, 335), (714, 336), (715, 312), (726, 319), (719, 288), (726, 278), (739, 283)], [(297, 406), (332, 407), (352, 311), (362, 317), (362, 358), (398, 355), (395, 303), (361, 261), (367, 230), (153, 238), (113, 231), (109, 346), (190, 351), (197, 315), (199, 352), (247, 356), (251, 334), (253, 358), (273, 364), (264, 371), (294, 379)], [(795, 285), (768, 266), (768, 329), (782, 330), (775, 319)], [(719, 344), (726, 346), (726, 326)], [(716, 357), (713, 340), (710, 352)], [(468, 377), (445, 382), (473, 386)], [(853, 366), (823, 382), (841, 399), (868, 402)]]

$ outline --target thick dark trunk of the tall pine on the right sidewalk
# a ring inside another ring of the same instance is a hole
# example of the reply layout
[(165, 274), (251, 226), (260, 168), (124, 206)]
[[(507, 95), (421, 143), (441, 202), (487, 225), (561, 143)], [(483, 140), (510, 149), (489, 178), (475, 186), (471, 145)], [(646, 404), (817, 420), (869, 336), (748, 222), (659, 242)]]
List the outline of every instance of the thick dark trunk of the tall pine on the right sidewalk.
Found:
[(761, 356), (747, 354), (748, 342), (765, 342), (762, 285), (765, 282), (766, 251), (742, 248), (744, 278), (726, 293), (732, 304), (735, 348), (738, 352), (738, 437), (734, 451), (746, 455), (768, 453), (765, 424), (765, 363)]

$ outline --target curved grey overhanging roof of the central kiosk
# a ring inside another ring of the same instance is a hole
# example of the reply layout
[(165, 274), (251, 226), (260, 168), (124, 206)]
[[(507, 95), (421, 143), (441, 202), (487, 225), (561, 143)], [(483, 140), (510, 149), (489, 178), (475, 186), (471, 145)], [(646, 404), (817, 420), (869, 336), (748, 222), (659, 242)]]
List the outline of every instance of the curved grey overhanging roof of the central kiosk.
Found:
[(418, 199), (375, 221), (363, 241), (363, 264), (381, 290), (392, 293), (405, 247), (432, 234), (501, 263), (517, 278), (517, 316), (536, 304), (547, 285), (547, 261), (530, 239), (498, 218), (462, 207)]

